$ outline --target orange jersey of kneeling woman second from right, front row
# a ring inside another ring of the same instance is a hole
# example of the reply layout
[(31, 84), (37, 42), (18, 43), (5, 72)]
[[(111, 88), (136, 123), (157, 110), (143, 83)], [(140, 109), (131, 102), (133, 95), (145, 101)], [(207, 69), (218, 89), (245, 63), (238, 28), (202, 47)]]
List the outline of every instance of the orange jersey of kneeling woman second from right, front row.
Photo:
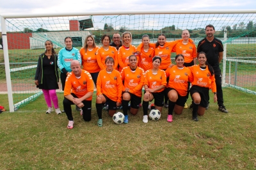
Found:
[(166, 77), (169, 77), (167, 88), (175, 89), (181, 97), (184, 97), (188, 93), (188, 81), (193, 79), (191, 71), (188, 67), (178, 68), (177, 65), (168, 68), (166, 71)]

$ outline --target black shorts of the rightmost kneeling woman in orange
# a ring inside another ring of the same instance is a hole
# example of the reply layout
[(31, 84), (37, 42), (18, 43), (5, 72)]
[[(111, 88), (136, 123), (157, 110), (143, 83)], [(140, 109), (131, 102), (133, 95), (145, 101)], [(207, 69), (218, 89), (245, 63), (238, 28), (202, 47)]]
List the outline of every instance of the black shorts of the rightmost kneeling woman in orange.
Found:
[(201, 97), (201, 102), (200, 102), (200, 106), (201, 107), (207, 107), (208, 105), (208, 101), (210, 99), (209, 97), (209, 88), (204, 88), (204, 87), (200, 87), (200, 86), (192, 86), (192, 88), (190, 88), (190, 95), (192, 98), (192, 95), (194, 93), (199, 93), (200, 97)]

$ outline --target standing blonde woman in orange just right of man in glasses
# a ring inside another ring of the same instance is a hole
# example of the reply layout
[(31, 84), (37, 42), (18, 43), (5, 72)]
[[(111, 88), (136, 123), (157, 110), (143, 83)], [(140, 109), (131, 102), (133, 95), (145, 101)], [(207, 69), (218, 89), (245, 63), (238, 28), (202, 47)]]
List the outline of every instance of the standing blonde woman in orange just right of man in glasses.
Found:
[(125, 66), (129, 65), (129, 56), (136, 53), (136, 47), (131, 45), (132, 34), (130, 32), (124, 32), (122, 34), (122, 47), (118, 49), (118, 71), (121, 72)]

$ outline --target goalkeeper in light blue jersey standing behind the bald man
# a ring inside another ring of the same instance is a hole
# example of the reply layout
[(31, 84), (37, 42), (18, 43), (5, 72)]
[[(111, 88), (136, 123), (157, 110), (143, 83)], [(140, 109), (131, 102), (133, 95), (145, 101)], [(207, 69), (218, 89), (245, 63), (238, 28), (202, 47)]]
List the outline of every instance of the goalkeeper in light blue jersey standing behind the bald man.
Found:
[[(68, 74), (72, 71), (70, 68), (70, 63), (73, 60), (78, 60), (81, 64), (81, 55), (79, 53), (79, 50), (75, 47), (72, 47), (73, 39), (70, 36), (67, 36), (65, 38), (65, 45), (66, 47), (61, 49), (58, 54), (58, 67), (61, 70), (60, 73), (60, 80), (62, 84), (62, 90), (65, 89), (65, 82)], [(79, 107), (76, 107), (77, 111), (81, 111)], [(65, 112), (65, 111), (62, 111)]]

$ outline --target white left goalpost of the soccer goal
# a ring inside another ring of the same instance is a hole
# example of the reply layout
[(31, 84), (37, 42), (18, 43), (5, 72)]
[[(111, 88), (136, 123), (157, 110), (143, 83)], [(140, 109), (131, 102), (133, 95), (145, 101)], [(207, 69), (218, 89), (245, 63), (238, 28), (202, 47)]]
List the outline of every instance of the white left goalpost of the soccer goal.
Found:
[(10, 109), (10, 112), (14, 112), (13, 97), (12, 97), (11, 71), (10, 71), (8, 43), (7, 43), (7, 35), (6, 35), (6, 24), (5, 24), (5, 19), (2, 16), (1, 16), (1, 27), (2, 27), (4, 67), (5, 67), (5, 76), (6, 76), (6, 84), (7, 84), (7, 91), (8, 91), (9, 109)]

